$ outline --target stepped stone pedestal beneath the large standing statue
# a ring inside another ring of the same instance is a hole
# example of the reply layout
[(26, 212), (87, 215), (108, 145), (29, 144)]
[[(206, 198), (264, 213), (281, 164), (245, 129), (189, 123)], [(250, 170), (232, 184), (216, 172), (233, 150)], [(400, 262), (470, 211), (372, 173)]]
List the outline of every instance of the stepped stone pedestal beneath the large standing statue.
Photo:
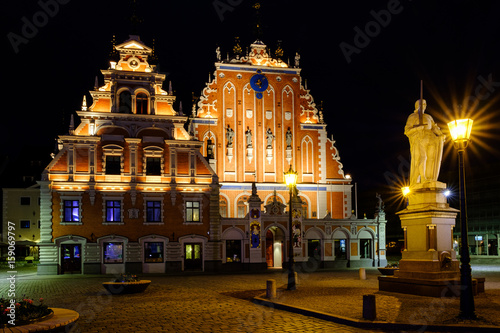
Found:
[(411, 189), (409, 204), (398, 212), (405, 250), (394, 276), (380, 276), (379, 290), (422, 296), (460, 294), (459, 262), (453, 250), (453, 227), (459, 212), (450, 208), (446, 184), (428, 182)]

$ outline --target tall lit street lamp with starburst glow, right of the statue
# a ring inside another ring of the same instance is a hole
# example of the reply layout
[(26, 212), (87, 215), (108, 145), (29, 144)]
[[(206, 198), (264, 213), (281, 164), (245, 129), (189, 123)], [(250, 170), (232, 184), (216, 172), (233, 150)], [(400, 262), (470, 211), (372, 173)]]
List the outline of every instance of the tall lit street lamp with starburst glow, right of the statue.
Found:
[(474, 295), (472, 293), (472, 275), (469, 255), (469, 238), (467, 230), (467, 204), (465, 200), (465, 166), (464, 152), (470, 140), (472, 119), (459, 119), (448, 123), (455, 148), (458, 150), (458, 173), (460, 182), (460, 314), (463, 319), (476, 318)]

